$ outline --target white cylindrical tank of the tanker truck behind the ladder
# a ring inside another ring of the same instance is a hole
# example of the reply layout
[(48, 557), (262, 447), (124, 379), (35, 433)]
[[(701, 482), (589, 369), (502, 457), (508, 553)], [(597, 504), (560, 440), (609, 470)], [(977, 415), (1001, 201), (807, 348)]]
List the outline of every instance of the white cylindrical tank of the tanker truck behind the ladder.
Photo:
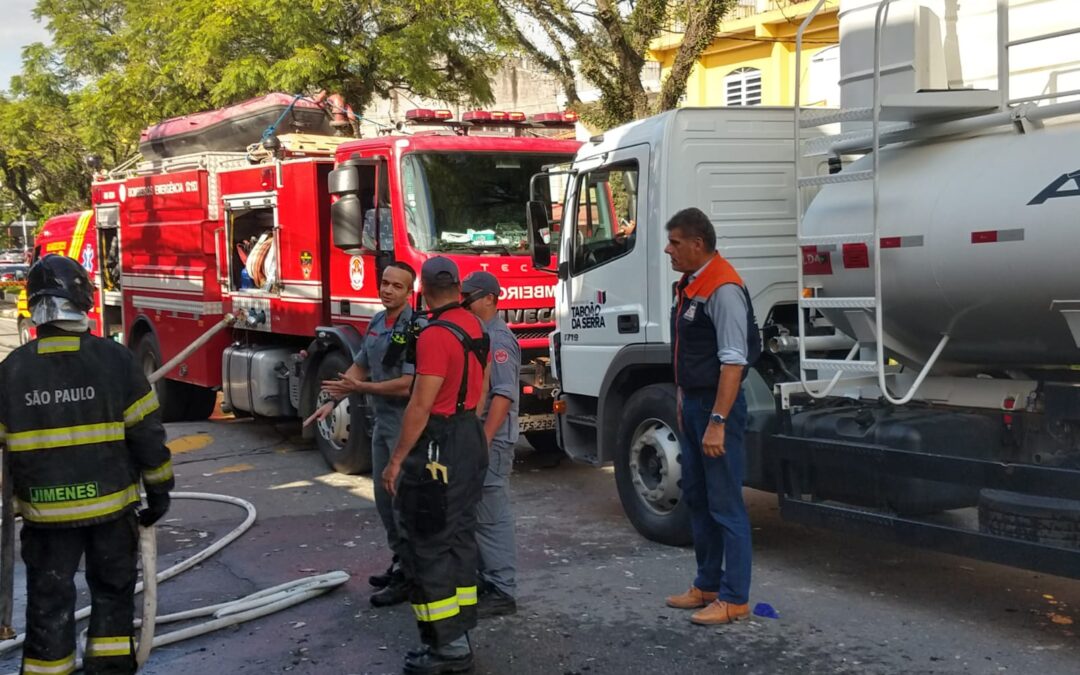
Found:
[[(866, 156), (845, 171), (868, 168)], [(805, 234), (869, 232), (872, 190), (869, 180), (825, 186)], [(924, 363), (948, 333), (936, 373), (1080, 364), (1080, 123), (886, 147), (879, 199), (891, 356)], [(873, 244), (866, 253), (805, 248), (815, 264), (806, 284), (823, 297), (872, 297)], [(873, 325), (873, 310), (823, 311), (849, 335), (862, 323), (849, 312)]]

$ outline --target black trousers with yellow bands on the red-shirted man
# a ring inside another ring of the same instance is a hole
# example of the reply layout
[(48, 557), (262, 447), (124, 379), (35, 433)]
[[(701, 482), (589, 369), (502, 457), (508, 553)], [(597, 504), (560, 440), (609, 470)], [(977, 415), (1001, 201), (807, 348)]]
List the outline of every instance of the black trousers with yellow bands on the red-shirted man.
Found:
[[(434, 444), (434, 445), (433, 445)], [(426, 467), (437, 448), (443, 484)], [(476, 504), (487, 473), (487, 441), (475, 413), (432, 415), (402, 464), (396, 508), (407, 555), (405, 576), (420, 639), (443, 647), (476, 626)]]

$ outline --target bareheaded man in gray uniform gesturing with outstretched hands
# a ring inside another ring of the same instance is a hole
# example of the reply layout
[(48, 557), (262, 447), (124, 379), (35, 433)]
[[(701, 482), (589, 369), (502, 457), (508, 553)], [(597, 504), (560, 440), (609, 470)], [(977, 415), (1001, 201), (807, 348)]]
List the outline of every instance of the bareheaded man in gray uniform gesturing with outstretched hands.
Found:
[(375, 508), (387, 530), (387, 544), (393, 553), (390, 568), (383, 575), (373, 575), (368, 582), (381, 589), (370, 597), (372, 605), (389, 607), (408, 599), (409, 581), (402, 571), (401, 558), (405, 543), (394, 521), (390, 495), (382, 487), (382, 470), (387, 468), (390, 450), (397, 443), (402, 416), (408, 403), (416, 365), (405, 359), (413, 309), (408, 306), (416, 270), (406, 262), (391, 262), (382, 270), (379, 299), (386, 308), (372, 318), (364, 334), (364, 341), (355, 363), (340, 379), (323, 382), (323, 391), (334, 397), (324, 404), (305, 424), (329, 415), (338, 401), (349, 394), (368, 394), (375, 413), (372, 430), (372, 476), (375, 481)]

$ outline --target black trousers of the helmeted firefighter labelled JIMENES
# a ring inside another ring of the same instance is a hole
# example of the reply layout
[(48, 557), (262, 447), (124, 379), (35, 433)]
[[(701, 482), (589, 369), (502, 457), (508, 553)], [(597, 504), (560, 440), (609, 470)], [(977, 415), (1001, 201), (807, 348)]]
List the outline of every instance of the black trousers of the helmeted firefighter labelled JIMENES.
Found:
[(84, 527), (24, 525), (21, 539), (27, 586), (22, 672), (56, 675), (75, 671), (75, 575), (85, 553), (91, 615), (83, 672), (134, 673), (135, 513)]

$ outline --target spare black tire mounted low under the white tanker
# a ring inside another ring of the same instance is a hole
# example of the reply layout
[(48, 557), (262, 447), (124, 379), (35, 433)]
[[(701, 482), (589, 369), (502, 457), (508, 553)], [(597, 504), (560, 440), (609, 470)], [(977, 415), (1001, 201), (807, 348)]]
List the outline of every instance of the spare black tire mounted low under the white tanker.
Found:
[(978, 495), (978, 529), (1080, 550), (1080, 501), (985, 489)]

